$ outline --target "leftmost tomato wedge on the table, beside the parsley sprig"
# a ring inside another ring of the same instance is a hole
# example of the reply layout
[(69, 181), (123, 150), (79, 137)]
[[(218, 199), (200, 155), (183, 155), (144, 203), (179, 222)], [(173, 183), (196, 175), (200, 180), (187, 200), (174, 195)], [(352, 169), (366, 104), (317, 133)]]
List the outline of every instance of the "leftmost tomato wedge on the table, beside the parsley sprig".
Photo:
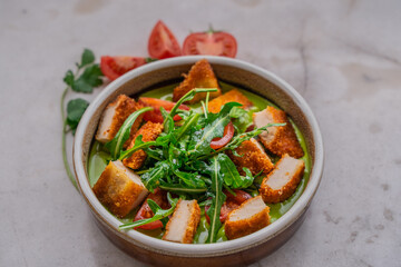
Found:
[(101, 72), (109, 78), (115, 80), (121, 75), (146, 63), (145, 58), (139, 57), (109, 57), (104, 56), (100, 59)]

